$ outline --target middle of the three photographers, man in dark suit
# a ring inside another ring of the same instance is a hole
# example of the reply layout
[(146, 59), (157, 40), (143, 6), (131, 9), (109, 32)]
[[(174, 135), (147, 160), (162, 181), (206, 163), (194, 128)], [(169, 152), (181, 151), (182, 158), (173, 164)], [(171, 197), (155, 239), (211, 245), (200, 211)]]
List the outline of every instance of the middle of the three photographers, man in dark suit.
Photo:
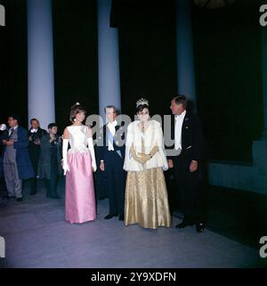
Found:
[(28, 153), (32, 168), (35, 172), (35, 176), (31, 180), (30, 195), (34, 195), (37, 192), (37, 171), (40, 158), (40, 144), (41, 139), (45, 134), (47, 134), (47, 132), (40, 127), (39, 120), (36, 118), (30, 119), (30, 129), (28, 130)]

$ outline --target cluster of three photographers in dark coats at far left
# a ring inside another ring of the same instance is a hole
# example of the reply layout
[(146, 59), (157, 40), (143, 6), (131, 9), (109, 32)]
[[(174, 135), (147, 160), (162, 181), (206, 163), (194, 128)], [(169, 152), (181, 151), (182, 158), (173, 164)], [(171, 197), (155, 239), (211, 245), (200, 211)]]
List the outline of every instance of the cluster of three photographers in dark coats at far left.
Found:
[(30, 195), (37, 193), (37, 180), (44, 179), (46, 197), (58, 199), (57, 183), (62, 174), (61, 136), (55, 123), (48, 125), (48, 132), (40, 127), (36, 118), (30, 120), (27, 131), (20, 126), (20, 117), (11, 114), (0, 128), (0, 176), (5, 198), (22, 201), (23, 182), (28, 180)]

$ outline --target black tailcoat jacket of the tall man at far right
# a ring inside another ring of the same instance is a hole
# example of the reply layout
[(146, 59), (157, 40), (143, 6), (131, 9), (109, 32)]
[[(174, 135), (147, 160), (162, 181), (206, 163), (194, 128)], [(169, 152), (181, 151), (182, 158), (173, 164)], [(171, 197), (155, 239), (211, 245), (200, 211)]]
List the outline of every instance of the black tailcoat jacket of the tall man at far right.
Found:
[[(171, 136), (174, 140), (175, 118), (172, 117)], [(187, 159), (200, 161), (203, 154), (203, 132), (198, 115), (186, 111), (182, 122), (182, 155)], [(166, 146), (166, 149), (174, 149), (172, 146)], [(167, 159), (175, 159), (174, 156), (168, 156)]]

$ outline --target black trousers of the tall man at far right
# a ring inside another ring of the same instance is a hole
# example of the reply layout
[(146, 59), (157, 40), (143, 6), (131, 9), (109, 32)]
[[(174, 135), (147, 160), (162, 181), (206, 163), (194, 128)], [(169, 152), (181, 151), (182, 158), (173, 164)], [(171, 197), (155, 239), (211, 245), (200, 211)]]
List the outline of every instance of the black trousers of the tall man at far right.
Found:
[(191, 173), (190, 163), (190, 156), (184, 152), (174, 157), (174, 177), (179, 205), (184, 216), (183, 220), (190, 224), (197, 224), (203, 222), (199, 164), (198, 170)]

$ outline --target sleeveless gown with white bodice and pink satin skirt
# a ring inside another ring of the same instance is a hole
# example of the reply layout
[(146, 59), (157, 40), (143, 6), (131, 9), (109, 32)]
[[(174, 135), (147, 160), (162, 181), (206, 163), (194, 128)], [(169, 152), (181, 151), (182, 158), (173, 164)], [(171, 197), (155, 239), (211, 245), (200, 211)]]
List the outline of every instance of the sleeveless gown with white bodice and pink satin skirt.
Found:
[(96, 219), (93, 186), (94, 152), (88, 149), (88, 127), (72, 126), (69, 130), (68, 166), (66, 174), (66, 220), (85, 223)]

